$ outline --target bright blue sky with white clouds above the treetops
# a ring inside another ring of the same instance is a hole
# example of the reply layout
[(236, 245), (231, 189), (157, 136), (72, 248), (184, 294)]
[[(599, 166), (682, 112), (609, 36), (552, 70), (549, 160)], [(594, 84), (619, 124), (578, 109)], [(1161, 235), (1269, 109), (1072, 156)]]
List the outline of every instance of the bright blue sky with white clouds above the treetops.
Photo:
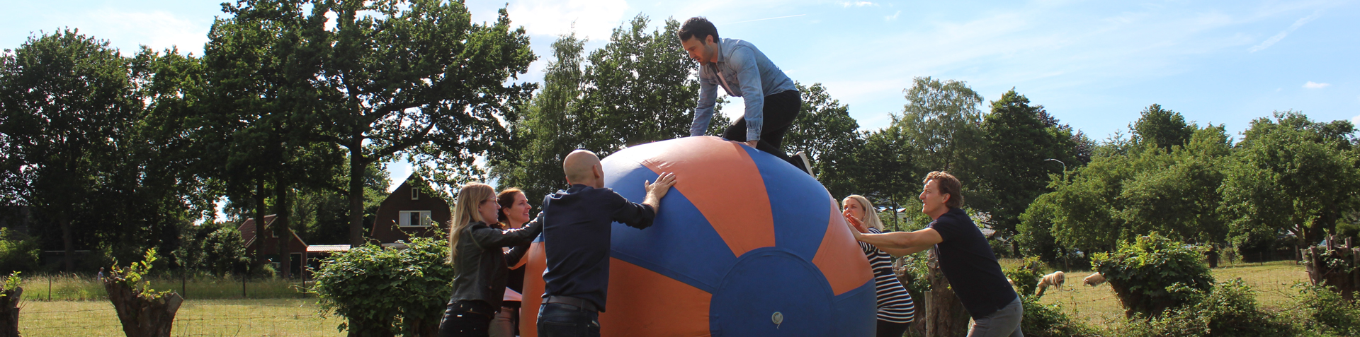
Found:
[[(220, 1), (8, 1), (0, 48), (58, 27), (133, 53), (203, 53)], [(792, 79), (821, 83), (862, 129), (887, 126), (914, 77), (966, 82), (993, 101), (1015, 88), (1103, 140), (1159, 103), (1232, 135), (1272, 111), (1360, 124), (1360, 0), (1316, 1), (804, 1), (468, 0), (476, 22), (505, 7), (540, 56), (520, 80), (541, 82), (549, 45), (575, 33), (596, 49), (646, 15), (706, 16), (752, 42)], [(725, 109), (740, 113), (741, 101)], [(733, 109), (736, 107), (736, 109)], [(409, 164), (389, 166), (396, 179)]]

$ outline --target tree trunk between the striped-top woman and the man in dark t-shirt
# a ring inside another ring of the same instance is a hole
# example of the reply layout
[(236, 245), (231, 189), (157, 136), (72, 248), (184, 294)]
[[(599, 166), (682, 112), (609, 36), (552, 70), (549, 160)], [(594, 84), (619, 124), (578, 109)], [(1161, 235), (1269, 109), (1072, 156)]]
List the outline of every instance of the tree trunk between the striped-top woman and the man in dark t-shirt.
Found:
[(962, 337), (968, 333), (968, 310), (949, 288), (949, 280), (940, 270), (940, 258), (934, 249), (926, 260), (930, 273), (930, 292), (926, 294), (926, 336)]

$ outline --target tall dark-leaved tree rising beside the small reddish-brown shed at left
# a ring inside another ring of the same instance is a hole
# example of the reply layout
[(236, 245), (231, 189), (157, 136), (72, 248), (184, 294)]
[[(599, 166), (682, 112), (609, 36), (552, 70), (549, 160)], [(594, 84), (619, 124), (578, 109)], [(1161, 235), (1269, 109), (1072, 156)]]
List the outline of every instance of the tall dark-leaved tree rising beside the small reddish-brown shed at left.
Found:
[[(326, 98), (318, 90), (317, 73), (324, 64), (325, 41), (309, 39), (324, 27), (324, 15), (313, 7), (306, 15), (302, 1), (241, 1), (223, 5), (230, 18), (218, 19), (208, 33), (204, 61), (212, 96), (204, 116), (205, 140), (222, 152), (215, 173), (226, 182), (228, 196), (254, 204), (256, 257), (264, 258), (262, 239), (279, 241), (279, 262), (284, 274), (291, 269), (287, 255), (290, 238), (290, 189), (301, 183), (324, 183), (341, 152), (317, 143), (330, 125)], [(215, 158), (220, 156), (220, 158)], [(318, 182), (318, 179), (321, 182)], [(273, 228), (265, 228), (265, 215), (273, 201)]]

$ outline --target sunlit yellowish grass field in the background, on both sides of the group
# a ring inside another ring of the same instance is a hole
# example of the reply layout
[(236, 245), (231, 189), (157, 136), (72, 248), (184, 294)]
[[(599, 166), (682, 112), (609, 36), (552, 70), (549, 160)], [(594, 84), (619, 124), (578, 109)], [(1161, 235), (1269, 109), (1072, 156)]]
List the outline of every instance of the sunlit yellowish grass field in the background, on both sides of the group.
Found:
[[(1004, 268), (1015, 264), (1017, 262), (1002, 260)], [(1074, 318), (1096, 327), (1114, 329), (1123, 318), (1123, 308), (1110, 285), (1085, 287), (1081, 285), (1081, 277), (1089, 274), (1089, 270), (1065, 272), (1066, 287), (1062, 291), (1050, 288), (1042, 302), (1061, 303)], [(1291, 296), (1297, 294), (1292, 285), (1307, 281), (1303, 266), (1295, 265), (1293, 261), (1229, 265), (1213, 269), (1213, 276), (1217, 281), (1240, 277), (1255, 289), (1257, 300), (1263, 307), (1274, 310), (1292, 308), (1295, 302)], [(54, 291), (53, 296), (99, 300), (53, 302), (35, 300), (39, 294), (44, 299), (46, 295), (46, 280), (38, 277), (35, 280), (24, 281), (26, 300), (19, 314), (19, 332), (24, 336), (122, 336), (113, 304), (102, 300), (103, 291), (97, 288), (92, 280), (53, 279), (53, 285), (63, 284), (61, 291)], [(178, 280), (160, 280), (152, 285), (159, 289), (180, 287)], [(260, 291), (252, 292), (254, 288)], [(190, 281), (188, 291), (189, 300), (175, 317), (174, 336), (343, 336), (336, 330), (343, 318), (320, 317), (316, 299), (298, 298), (294, 284), (282, 280), (248, 284), (248, 296), (273, 295), (276, 296), (273, 299), (241, 299), (239, 280)]]

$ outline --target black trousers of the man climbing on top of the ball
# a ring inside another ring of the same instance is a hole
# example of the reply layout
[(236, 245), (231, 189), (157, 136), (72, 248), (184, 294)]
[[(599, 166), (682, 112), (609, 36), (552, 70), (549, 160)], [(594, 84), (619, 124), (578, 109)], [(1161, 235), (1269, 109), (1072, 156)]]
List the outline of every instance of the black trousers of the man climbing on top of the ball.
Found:
[[(798, 118), (800, 110), (802, 110), (802, 96), (798, 95), (797, 90), (786, 90), (766, 96), (764, 107), (760, 109), (764, 121), (760, 126), (760, 141), (756, 143), (756, 149), (792, 163), (793, 160), (789, 159), (789, 154), (783, 152), (783, 133), (787, 133), (789, 128), (793, 126), (793, 120)], [(747, 141), (747, 117), (740, 117), (736, 122), (732, 122), (732, 126), (728, 126), (722, 132), (722, 137), (726, 140)]]

